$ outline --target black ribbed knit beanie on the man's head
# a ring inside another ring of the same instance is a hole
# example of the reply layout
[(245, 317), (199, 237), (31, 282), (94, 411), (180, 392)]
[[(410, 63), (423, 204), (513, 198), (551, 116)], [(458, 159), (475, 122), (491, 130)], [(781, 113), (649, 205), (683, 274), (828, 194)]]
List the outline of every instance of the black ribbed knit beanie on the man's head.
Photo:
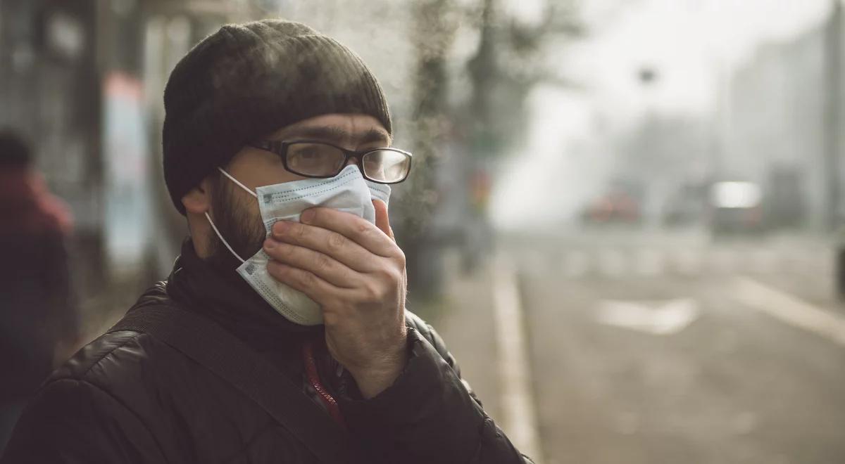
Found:
[(248, 143), (329, 113), (362, 113), (391, 132), (373, 73), (353, 51), (304, 24), (227, 24), (173, 68), (164, 92), (164, 177), (173, 204)]

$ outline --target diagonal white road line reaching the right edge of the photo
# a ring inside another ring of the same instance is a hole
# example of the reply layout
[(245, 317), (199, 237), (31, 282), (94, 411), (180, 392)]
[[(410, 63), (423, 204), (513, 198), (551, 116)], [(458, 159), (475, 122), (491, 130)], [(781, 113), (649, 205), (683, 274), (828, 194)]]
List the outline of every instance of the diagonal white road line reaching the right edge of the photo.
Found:
[(845, 346), (845, 318), (752, 278), (739, 277), (734, 286), (740, 303)]

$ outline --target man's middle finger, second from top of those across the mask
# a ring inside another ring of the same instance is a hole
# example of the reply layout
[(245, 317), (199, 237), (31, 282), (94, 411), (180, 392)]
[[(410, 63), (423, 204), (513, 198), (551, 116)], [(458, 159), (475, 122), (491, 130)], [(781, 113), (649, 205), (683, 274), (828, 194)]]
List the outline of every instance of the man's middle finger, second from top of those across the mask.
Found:
[(373, 253), (347, 239), (346, 236), (329, 229), (279, 221), (273, 224), (271, 235), (273, 239), (283, 243), (298, 245), (330, 256), (357, 272), (370, 272), (378, 266), (378, 263), (373, 260), (375, 257)]

